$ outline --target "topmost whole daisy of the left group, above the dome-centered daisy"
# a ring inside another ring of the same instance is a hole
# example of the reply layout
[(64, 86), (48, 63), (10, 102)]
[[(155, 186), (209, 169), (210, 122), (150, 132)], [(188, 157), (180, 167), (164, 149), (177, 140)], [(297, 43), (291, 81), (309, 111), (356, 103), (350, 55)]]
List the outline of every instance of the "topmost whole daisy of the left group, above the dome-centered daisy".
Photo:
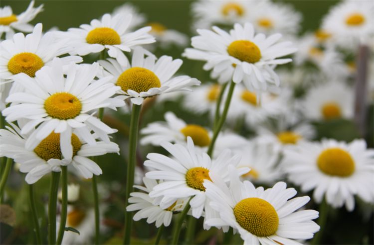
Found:
[(108, 49), (108, 55), (125, 66), (127, 59), (122, 51), (130, 52), (131, 47), (155, 42), (155, 38), (148, 34), (151, 27), (126, 32), (131, 19), (131, 14), (120, 13), (112, 17), (106, 13), (101, 21), (93, 19), (89, 25), (82, 24), (80, 28), (69, 28), (67, 32), (58, 33), (71, 39), (69, 45), (74, 51), (70, 54), (88, 55)]

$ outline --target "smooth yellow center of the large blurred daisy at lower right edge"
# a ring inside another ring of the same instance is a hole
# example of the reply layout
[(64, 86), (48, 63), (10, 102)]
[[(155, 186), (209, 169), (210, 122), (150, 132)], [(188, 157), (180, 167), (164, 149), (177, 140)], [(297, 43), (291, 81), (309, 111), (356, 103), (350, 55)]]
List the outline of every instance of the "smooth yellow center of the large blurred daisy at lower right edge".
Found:
[(324, 173), (340, 177), (350, 176), (355, 171), (351, 155), (339, 148), (323, 151), (318, 157), (317, 165)]

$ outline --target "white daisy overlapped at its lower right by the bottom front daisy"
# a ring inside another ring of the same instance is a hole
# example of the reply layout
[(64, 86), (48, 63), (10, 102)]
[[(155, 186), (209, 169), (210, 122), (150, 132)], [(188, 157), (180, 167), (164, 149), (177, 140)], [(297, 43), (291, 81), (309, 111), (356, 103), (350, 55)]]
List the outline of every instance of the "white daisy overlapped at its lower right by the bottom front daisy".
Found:
[[(204, 207), (209, 203), (205, 195), (205, 187), (202, 185), (204, 179), (210, 180), (209, 172), (213, 171), (227, 181), (227, 166), (232, 164), (235, 168), (240, 161), (240, 156), (231, 157), (231, 151), (226, 149), (212, 162), (206, 153), (195, 153), (190, 137), (187, 137), (187, 148), (169, 142), (162, 142), (161, 146), (172, 154), (175, 160), (157, 153), (148, 154), (149, 160), (145, 161), (144, 165), (156, 171), (146, 173), (146, 177), (166, 180), (153, 187), (149, 196), (156, 198), (163, 195), (164, 198), (160, 203), (162, 209), (170, 207), (179, 198), (194, 196), (189, 204), (192, 208), (192, 216), (199, 218)], [(239, 175), (248, 170), (247, 167), (235, 169)], [(205, 213), (209, 216), (209, 210), (205, 209)]]

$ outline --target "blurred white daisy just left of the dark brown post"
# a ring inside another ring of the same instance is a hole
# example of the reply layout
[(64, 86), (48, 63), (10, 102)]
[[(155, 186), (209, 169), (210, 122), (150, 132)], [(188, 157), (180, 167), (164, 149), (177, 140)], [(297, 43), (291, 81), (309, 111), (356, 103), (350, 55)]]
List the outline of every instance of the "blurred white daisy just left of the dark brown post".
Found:
[(328, 82), (311, 88), (304, 114), (311, 120), (351, 119), (354, 116), (354, 91), (342, 82)]

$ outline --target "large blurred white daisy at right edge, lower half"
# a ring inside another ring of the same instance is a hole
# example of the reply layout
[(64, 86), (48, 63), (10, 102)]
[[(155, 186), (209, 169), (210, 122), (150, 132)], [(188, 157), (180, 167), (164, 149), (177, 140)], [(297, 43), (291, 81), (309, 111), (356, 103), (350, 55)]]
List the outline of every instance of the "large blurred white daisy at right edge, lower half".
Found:
[(334, 208), (344, 204), (348, 211), (355, 208), (354, 195), (367, 203), (374, 202), (374, 150), (367, 149), (365, 140), (351, 143), (323, 139), (302, 142), (297, 149), (286, 149), (283, 166), (288, 179), (304, 192), (314, 189), (313, 197)]

